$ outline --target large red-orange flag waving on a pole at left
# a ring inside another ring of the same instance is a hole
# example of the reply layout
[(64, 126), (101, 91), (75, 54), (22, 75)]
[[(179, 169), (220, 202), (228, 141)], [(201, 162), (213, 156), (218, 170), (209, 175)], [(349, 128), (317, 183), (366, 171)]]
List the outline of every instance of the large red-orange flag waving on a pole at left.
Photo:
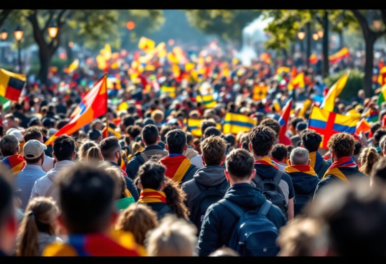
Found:
[(76, 114), (73, 119), (64, 127), (53, 134), (46, 142), (46, 145), (60, 135), (71, 135), (82, 127), (91, 123), (99, 116), (107, 112), (107, 87), (106, 87), (107, 73), (100, 78), (94, 87), (82, 98), (80, 104), (77, 106)]

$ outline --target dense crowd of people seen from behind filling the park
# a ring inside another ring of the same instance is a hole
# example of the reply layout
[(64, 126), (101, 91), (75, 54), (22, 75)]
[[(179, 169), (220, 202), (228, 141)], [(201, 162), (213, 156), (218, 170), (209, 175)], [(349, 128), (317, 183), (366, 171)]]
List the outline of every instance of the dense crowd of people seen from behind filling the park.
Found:
[[(202, 59), (195, 78), (158, 60), (140, 82), (122, 77), (106, 115), (52, 145), (44, 143), (89, 89), (86, 70), (63, 77), (64, 90), (30, 83), (2, 110), (0, 255), (386, 254), (386, 105), (363, 91), (337, 99), (337, 113), (371, 108), (379, 121), (359, 136), (335, 133), (322, 149), (323, 135), (307, 125), (310, 109), (302, 111), (304, 100), (323, 95), (312, 70), (306, 87), (291, 90), (291, 73), (267, 62)], [(256, 99), (255, 85), (269, 89)], [(197, 100), (204, 95), (217, 98), (213, 106)], [(278, 120), (289, 98), (291, 143), (283, 144)], [(224, 133), (228, 112), (256, 126)], [(201, 120), (194, 131), (188, 119)]]

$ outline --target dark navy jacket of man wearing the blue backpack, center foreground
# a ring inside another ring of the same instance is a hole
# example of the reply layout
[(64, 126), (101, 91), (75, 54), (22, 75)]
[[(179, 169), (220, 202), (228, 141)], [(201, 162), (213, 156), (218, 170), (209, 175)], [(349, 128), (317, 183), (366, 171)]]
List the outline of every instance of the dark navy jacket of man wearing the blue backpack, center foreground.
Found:
[[(231, 186), (224, 196), (225, 199), (237, 204), (245, 212), (259, 209), (265, 202), (265, 196), (258, 188), (247, 183), (240, 183)], [(279, 229), (286, 223), (282, 211), (272, 205), (267, 218)], [(198, 240), (200, 256), (208, 256), (211, 252), (228, 246), (233, 229), (237, 223), (237, 217), (222, 204), (212, 204), (205, 213)]]

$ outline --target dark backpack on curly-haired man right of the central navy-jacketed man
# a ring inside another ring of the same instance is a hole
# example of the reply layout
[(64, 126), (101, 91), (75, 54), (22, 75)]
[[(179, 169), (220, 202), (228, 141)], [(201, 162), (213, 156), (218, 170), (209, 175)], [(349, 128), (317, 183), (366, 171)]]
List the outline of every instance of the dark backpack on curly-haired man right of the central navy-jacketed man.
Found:
[(280, 181), (283, 177), (283, 171), (278, 169), (272, 180), (261, 180), (256, 174), (255, 183), (256, 188), (261, 189), (267, 200), (270, 200), (275, 206), (282, 210), (284, 216), (288, 217), (288, 204), (284, 197), (283, 191), (279, 186)]

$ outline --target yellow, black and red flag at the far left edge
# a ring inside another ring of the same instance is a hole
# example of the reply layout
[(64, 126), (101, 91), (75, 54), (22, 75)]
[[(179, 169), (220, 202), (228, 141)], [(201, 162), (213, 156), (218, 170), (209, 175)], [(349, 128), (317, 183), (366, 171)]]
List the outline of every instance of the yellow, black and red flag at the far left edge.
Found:
[(19, 100), (25, 83), (25, 74), (17, 74), (0, 68), (0, 96), (13, 101)]

